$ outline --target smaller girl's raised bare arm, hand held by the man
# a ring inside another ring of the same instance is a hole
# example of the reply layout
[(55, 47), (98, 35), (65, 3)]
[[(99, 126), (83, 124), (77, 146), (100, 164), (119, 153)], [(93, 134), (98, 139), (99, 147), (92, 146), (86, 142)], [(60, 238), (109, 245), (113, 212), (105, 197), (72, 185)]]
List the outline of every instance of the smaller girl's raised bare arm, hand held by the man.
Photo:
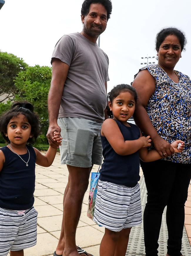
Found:
[[(62, 141), (62, 138), (60, 137), (60, 133), (54, 132), (53, 140), (57, 141), (60, 144)], [(54, 158), (56, 156), (57, 148), (53, 148), (53, 147), (49, 146), (45, 155), (41, 154), (41, 152), (38, 151), (38, 149), (36, 149), (36, 148), (34, 148), (34, 150), (36, 153), (36, 164), (41, 165), (43, 167), (51, 166), (51, 164), (53, 163)]]

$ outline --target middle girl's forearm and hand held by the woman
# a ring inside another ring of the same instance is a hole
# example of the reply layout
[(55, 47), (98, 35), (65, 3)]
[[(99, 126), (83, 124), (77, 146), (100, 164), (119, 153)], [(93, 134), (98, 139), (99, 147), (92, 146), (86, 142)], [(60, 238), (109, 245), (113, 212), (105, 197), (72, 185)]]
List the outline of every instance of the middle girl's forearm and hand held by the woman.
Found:
[[(181, 143), (181, 145), (178, 148), (179, 143)], [(181, 153), (185, 147), (185, 143), (181, 140), (173, 141), (170, 145), (173, 147), (175, 153)], [(143, 162), (153, 162), (161, 159), (161, 156), (155, 149), (149, 151), (147, 148), (141, 148), (139, 150), (139, 156)], [(166, 157), (165, 154), (164, 157)]]

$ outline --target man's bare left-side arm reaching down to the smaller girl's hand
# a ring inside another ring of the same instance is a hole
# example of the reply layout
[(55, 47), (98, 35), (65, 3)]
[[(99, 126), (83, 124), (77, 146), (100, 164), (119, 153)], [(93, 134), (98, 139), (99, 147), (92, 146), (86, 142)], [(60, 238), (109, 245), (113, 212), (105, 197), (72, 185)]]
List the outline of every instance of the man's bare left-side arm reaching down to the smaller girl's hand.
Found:
[(68, 74), (69, 66), (57, 58), (53, 58), (52, 61), (52, 80), (51, 87), (48, 93), (48, 116), (49, 127), (46, 137), (52, 147), (57, 147), (58, 143), (53, 141), (53, 133), (61, 132), (61, 128), (58, 126), (57, 118), (61, 104), (61, 97), (63, 93), (64, 84)]

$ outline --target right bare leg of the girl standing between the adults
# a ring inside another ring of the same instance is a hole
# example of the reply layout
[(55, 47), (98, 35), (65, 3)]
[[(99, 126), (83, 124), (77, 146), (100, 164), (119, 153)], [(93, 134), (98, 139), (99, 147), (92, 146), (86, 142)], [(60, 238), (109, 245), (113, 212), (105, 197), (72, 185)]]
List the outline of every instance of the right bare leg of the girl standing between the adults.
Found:
[(115, 247), (115, 254), (114, 256), (125, 256), (127, 251), (127, 246), (129, 242), (129, 234), (131, 231), (131, 227), (127, 229), (122, 229), (119, 233), (119, 239), (117, 241)]

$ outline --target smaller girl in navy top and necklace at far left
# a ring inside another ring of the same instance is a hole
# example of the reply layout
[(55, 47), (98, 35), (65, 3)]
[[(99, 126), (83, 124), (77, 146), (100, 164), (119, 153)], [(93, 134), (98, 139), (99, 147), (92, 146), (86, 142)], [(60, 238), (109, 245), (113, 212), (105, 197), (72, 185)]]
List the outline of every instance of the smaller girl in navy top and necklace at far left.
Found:
[[(57, 148), (45, 155), (29, 146), (40, 133), (38, 116), (29, 102), (14, 102), (0, 118), (0, 131), (9, 143), (0, 149), (0, 255), (23, 256), (36, 244), (37, 211), (33, 207), (35, 163), (52, 164)], [(61, 143), (59, 133), (53, 139)]]

